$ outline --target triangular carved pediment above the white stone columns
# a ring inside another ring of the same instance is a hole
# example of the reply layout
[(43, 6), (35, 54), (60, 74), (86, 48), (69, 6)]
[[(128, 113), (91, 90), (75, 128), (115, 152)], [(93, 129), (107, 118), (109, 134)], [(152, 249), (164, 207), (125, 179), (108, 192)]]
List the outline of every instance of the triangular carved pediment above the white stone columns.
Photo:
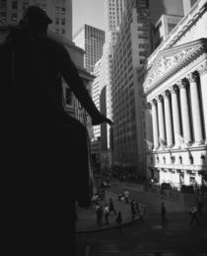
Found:
[(144, 93), (151, 91), (176, 71), (186, 66), (203, 52), (207, 52), (207, 39), (184, 43), (159, 52), (144, 82)]

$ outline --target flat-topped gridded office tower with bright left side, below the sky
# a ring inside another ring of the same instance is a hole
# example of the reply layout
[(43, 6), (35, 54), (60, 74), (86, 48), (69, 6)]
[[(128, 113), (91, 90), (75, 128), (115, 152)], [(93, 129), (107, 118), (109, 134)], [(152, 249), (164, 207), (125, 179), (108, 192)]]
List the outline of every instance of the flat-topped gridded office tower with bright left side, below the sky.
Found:
[(85, 50), (84, 67), (94, 72), (94, 66), (103, 55), (104, 31), (84, 25), (73, 37), (74, 43)]

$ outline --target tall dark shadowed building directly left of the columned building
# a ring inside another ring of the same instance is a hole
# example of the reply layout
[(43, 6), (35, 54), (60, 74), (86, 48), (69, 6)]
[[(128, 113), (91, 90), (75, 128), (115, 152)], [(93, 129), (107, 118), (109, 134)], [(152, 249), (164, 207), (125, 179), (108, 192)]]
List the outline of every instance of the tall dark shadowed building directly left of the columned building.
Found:
[(144, 169), (142, 97), (137, 83), (150, 53), (149, 1), (127, 1), (111, 63), (114, 164)]

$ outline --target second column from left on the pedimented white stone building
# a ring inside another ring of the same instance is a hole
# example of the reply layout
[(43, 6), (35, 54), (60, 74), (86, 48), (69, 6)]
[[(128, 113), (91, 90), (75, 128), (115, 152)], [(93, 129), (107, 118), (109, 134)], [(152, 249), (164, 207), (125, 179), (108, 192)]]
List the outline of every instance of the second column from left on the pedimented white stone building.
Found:
[(165, 119), (164, 119), (164, 106), (163, 106), (163, 96), (159, 95), (158, 100), (158, 121), (159, 121), (159, 140), (160, 146), (166, 142), (166, 130), (165, 130)]

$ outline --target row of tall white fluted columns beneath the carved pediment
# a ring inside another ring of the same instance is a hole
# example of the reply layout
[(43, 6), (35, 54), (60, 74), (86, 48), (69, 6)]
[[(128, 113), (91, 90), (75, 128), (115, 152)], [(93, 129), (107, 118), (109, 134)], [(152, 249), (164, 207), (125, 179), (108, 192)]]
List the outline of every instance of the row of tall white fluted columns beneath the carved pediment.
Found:
[[(200, 83), (207, 83), (207, 65), (198, 70), (200, 75)], [(198, 77), (193, 72), (186, 75), (182, 80), (176, 82), (171, 88), (164, 93), (157, 96), (150, 102), (152, 106), (153, 116), (153, 138), (154, 148), (159, 148), (163, 143), (169, 147), (173, 145), (178, 147), (180, 139), (184, 142), (191, 142), (192, 128), (194, 134), (194, 142), (200, 144), (204, 141), (203, 123), (202, 123), (202, 110), (200, 105)], [(188, 104), (187, 85), (190, 87), (190, 103), (191, 103), (191, 117), (192, 128), (190, 121), (190, 109)], [(207, 84), (203, 84), (205, 89)], [(179, 99), (178, 99), (179, 90)], [(204, 92), (201, 92), (204, 93)], [(172, 101), (170, 100), (170, 97)], [(204, 111), (204, 127), (207, 128), (207, 106), (203, 98), (203, 111)], [(180, 104), (179, 104), (180, 103)], [(172, 104), (172, 105), (171, 105)], [(180, 106), (180, 110), (179, 110)], [(181, 122), (180, 122), (181, 120)], [(181, 135), (182, 134), (182, 135)]]

